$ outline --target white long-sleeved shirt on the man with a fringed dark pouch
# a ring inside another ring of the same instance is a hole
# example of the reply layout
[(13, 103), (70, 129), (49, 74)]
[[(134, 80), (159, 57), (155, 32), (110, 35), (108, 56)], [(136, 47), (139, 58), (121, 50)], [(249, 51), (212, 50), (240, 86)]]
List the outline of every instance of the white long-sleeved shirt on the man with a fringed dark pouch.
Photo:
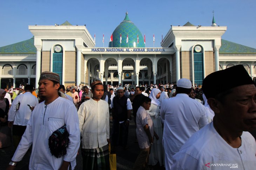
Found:
[[(50, 153), (49, 136), (65, 124), (69, 133), (67, 154), (56, 158)], [(48, 105), (45, 102), (36, 105), (12, 161), (21, 161), (32, 143), (30, 170), (58, 170), (63, 161), (70, 162), (74, 169), (80, 146), (79, 120), (75, 105), (62, 97)]]

